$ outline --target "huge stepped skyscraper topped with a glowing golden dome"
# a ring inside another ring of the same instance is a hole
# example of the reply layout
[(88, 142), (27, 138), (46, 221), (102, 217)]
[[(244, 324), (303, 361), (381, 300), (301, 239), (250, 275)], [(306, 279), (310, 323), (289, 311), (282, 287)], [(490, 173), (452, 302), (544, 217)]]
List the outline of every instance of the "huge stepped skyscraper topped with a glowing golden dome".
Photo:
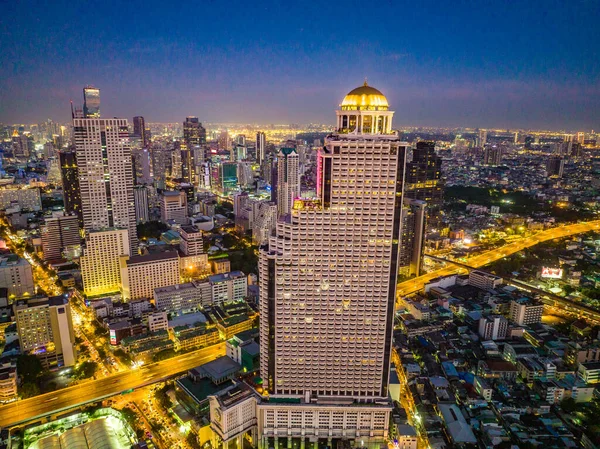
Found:
[(261, 447), (280, 435), (300, 447), (387, 438), (407, 144), (366, 83), (336, 114), (318, 154), (317, 198), (297, 200), (260, 251), (263, 386), (293, 398), (258, 405)]

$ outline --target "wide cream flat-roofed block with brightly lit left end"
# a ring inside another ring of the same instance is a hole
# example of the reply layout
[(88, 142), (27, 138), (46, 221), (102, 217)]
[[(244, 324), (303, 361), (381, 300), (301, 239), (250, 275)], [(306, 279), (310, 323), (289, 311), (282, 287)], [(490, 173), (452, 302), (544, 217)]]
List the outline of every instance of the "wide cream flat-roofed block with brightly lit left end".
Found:
[(152, 298), (154, 289), (179, 283), (179, 254), (177, 251), (122, 256), (120, 258), (124, 300)]

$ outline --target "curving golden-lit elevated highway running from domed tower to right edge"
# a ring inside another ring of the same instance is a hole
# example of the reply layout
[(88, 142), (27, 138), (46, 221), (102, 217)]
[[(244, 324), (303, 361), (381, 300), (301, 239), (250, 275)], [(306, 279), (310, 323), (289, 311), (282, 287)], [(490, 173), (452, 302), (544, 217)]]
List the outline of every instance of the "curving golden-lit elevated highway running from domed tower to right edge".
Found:
[[(590, 231), (600, 231), (600, 220), (587, 221), (583, 223), (577, 223), (567, 226), (557, 226), (555, 228), (546, 229), (545, 231), (540, 231), (537, 234), (534, 234), (530, 237), (524, 237), (521, 240), (517, 240), (499, 248), (492, 249), (490, 251), (486, 251), (476, 256), (472, 256), (466, 261), (464, 261), (464, 263), (475, 268), (483, 267), (484, 265), (500, 260), (506, 256), (510, 256), (511, 254), (524, 250), (525, 248), (537, 245), (538, 243), (542, 243), (553, 239), (560, 239), (563, 237), (569, 237), (571, 235), (581, 234)], [(427, 273), (423, 276), (419, 276), (414, 279), (401, 282), (398, 284), (396, 290), (396, 304), (400, 305), (402, 296), (418, 292), (425, 286), (425, 284), (430, 282), (432, 279), (449, 276), (451, 274), (462, 274), (467, 272), (468, 270), (466, 268), (445, 267), (436, 271), (432, 271), (431, 273)]]

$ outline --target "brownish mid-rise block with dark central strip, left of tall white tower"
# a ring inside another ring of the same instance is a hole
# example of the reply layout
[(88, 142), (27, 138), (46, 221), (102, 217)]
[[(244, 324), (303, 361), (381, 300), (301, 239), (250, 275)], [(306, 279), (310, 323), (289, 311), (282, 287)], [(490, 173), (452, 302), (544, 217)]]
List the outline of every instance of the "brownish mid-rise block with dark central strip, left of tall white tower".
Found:
[(60, 260), (65, 253), (78, 252), (77, 248), (81, 248), (77, 215), (65, 215), (46, 219), (42, 227), (44, 260)]

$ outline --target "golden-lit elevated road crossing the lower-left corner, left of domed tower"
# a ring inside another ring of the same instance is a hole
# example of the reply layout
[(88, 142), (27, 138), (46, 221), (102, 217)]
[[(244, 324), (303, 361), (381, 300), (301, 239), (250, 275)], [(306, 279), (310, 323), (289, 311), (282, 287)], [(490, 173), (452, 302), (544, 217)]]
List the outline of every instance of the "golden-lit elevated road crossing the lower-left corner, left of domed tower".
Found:
[(183, 373), (225, 355), (225, 343), (218, 343), (162, 362), (124, 373), (53, 391), (0, 407), (0, 427), (22, 424), (59, 411), (114, 396)]

